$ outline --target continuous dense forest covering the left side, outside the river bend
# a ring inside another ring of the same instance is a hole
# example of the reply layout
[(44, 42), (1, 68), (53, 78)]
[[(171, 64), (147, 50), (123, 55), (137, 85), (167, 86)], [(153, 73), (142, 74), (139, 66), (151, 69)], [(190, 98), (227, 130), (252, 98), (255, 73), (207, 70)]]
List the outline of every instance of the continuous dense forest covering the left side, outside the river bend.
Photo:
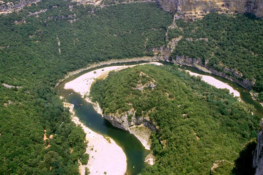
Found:
[[(87, 64), (152, 55), (171, 22), (155, 3), (96, 8), (43, 0), (0, 15), (0, 83), (23, 86), (0, 85), (0, 174), (79, 174), (78, 160), (89, 157), (85, 134), (55, 84)], [(43, 141), (44, 130), (53, 138)]]

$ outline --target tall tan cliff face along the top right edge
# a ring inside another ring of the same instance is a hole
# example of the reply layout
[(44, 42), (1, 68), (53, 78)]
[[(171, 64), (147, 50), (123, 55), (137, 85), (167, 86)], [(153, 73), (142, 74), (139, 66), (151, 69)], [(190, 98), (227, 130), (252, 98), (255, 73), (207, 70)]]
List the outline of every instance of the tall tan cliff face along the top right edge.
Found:
[(262, 0), (157, 0), (157, 3), (167, 12), (179, 13), (186, 21), (202, 18), (209, 12), (263, 16)]

